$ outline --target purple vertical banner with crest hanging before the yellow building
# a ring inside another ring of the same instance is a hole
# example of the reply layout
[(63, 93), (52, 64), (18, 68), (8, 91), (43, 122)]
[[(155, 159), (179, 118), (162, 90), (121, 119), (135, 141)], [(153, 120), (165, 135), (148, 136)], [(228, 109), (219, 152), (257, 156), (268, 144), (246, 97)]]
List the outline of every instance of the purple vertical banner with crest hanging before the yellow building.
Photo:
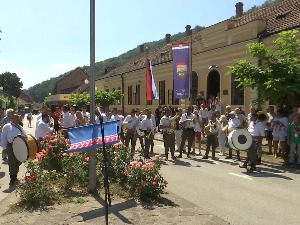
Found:
[(174, 98), (190, 97), (190, 44), (172, 45)]

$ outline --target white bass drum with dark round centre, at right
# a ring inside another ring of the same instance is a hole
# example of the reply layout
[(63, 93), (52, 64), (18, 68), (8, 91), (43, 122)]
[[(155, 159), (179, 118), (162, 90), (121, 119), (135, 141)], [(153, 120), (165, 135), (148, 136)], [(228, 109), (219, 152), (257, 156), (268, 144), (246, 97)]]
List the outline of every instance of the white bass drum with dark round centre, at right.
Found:
[(252, 144), (252, 136), (245, 129), (233, 130), (228, 135), (228, 144), (234, 150), (246, 151)]

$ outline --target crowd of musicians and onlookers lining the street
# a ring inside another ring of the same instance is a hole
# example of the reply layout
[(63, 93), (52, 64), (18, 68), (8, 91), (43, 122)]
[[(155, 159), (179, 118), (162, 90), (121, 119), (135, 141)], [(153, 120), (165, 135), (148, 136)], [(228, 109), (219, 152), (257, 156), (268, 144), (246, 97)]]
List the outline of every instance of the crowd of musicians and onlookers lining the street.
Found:
[[(139, 110), (134, 108), (129, 115), (124, 116), (122, 111), (113, 108), (97, 107), (95, 109), (95, 122), (117, 121), (118, 136), (132, 154), (136, 151), (136, 142), (140, 142), (143, 156), (147, 159), (154, 150), (154, 135), (161, 132), (165, 148), (165, 160), (169, 156), (173, 160), (192, 155), (200, 155), (202, 159), (208, 159), (211, 151), (212, 160), (218, 155), (225, 159), (232, 159), (233, 150), (236, 159), (241, 161), (240, 149), (231, 143), (233, 131), (247, 130), (251, 135), (251, 143), (247, 150), (244, 163), (239, 166), (255, 171), (256, 165), (261, 163), (262, 140), (266, 138), (269, 154), (275, 158), (289, 155), (289, 163), (300, 165), (300, 122), (298, 107), (286, 116), (281, 110), (275, 113), (274, 107), (269, 106), (266, 112), (258, 111), (251, 107), (249, 114), (241, 108), (232, 109), (230, 105), (225, 107), (222, 113), (222, 105), (218, 97), (205, 100), (201, 95), (197, 98), (196, 105), (189, 106), (185, 110), (179, 107), (158, 106), (154, 113), (146, 108)], [(32, 114), (27, 114), (28, 127), (31, 127)], [(80, 109), (67, 106), (56, 107), (52, 112), (47, 107), (42, 107), (37, 116), (35, 137), (41, 141), (46, 133), (55, 133), (62, 130), (67, 137), (68, 128), (84, 126), (91, 122), (91, 115), (87, 106)], [(19, 163), (12, 154), (12, 141), (17, 135), (24, 135), (22, 128), (22, 115), (7, 109), (0, 109), (0, 123), (2, 127), (1, 146), (3, 160), (7, 160), (10, 167), (11, 184), (16, 181)], [(236, 132), (238, 133), (238, 132)], [(201, 153), (202, 137), (206, 137), (206, 149)], [(246, 140), (247, 141), (247, 140)], [(187, 142), (187, 148), (186, 148)], [(288, 148), (289, 147), (289, 148)], [(228, 148), (228, 154), (226, 154)], [(196, 149), (198, 150), (196, 153)], [(289, 150), (289, 151), (288, 151)], [(178, 155), (175, 156), (175, 152)], [(289, 154), (288, 154), (289, 153)], [(250, 166), (250, 168), (248, 168)]]

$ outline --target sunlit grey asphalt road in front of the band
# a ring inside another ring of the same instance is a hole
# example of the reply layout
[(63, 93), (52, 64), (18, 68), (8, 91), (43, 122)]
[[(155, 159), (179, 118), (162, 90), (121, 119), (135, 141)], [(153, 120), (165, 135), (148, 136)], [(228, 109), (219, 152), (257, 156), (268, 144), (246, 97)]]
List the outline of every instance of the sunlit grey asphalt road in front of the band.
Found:
[[(34, 134), (34, 128), (28, 128), (27, 121), (24, 122), (25, 131)], [(155, 141), (154, 151), (164, 153), (161, 141)], [(231, 224), (299, 224), (299, 170), (262, 165), (256, 173), (247, 174), (237, 165), (236, 161), (224, 157), (212, 161), (202, 160), (200, 156), (187, 159), (184, 155), (181, 160), (166, 162), (162, 174), (169, 182), (167, 191)], [(24, 173), (22, 164), (19, 177)], [(8, 166), (1, 164), (0, 202), (13, 191), (8, 183)]]

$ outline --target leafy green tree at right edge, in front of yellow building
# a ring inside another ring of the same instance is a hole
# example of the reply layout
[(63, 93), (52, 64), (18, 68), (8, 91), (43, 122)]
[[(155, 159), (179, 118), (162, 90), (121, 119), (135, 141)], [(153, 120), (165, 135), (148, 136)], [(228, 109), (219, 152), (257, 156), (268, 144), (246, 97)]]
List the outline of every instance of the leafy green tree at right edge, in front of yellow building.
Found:
[[(300, 96), (300, 40), (298, 31), (283, 31), (266, 47), (248, 44), (248, 54), (262, 62), (262, 67), (248, 60), (238, 60), (228, 74), (235, 75), (240, 88), (256, 88), (260, 98), (256, 104), (272, 100), (280, 107), (291, 107)], [(256, 61), (257, 62), (257, 61)]]

